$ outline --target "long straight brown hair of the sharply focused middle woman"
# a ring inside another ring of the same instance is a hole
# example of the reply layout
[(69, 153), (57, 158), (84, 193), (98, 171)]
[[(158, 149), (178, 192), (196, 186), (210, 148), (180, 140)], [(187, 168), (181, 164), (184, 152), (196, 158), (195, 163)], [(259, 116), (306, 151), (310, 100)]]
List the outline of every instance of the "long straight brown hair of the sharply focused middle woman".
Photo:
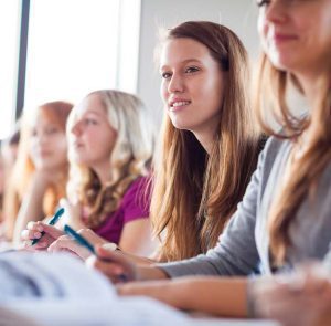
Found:
[(227, 72), (227, 81), (210, 156), (191, 132), (174, 128), (164, 116), (151, 202), (161, 261), (192, 257), (216, 244), (243, 198), (258, 154), (247, 94), (248, 59), (241, 40), (206, 21), (184, 22), (169, 31), (168, 40), (179, 38), (204, 44), (220, 71)]

